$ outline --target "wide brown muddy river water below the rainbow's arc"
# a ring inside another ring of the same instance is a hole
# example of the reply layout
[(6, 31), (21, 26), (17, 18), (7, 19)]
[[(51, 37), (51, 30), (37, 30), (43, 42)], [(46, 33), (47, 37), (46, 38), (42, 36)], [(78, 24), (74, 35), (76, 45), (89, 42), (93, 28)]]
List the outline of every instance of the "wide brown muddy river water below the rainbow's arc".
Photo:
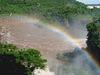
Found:
[[(48, 60), (47, 67), (60, 64), (61, 62), (56, 59), (57, 53), (73, 51), (75, 46), (70, 40), (57, 35), (53, 31), (36, 26), (36, 22), (35, 19), (33, 21), (0, 19), (0, 27), (5, 29), (4, 36), (1, 38), (19, 48), (39, 50), (43, 58)], [(85, 41), (85, 38), (81, 40), (84, 46)]]

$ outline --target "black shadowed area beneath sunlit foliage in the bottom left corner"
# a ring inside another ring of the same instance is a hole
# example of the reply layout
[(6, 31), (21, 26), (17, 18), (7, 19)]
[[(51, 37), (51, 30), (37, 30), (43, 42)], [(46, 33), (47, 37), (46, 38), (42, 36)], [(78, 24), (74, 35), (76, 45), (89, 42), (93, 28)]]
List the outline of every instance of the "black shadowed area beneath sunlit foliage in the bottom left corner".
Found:
[(0, 53), (0, 73), (3, 75), (30, 75), (30, 70), (20, 62), (16, 62), (16, 58), (15, 53)]

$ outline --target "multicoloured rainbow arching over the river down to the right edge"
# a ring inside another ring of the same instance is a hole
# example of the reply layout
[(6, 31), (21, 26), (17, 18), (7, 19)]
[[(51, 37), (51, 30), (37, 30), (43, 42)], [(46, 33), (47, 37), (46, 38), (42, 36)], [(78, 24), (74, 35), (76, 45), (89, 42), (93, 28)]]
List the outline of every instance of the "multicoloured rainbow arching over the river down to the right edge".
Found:
[[(76, 47), (82, 48), (83, 45), (78, 42), (77, 39), (75, 39), (72, 35), (70, 35), (67, 30), (65, 30), (64, 28), (62, 28), (59, 25), (54, 25), (54, 24), (44, 24), (42, 22), (38, 22), (40, 25), (45, 26), (46, 28), (50, 29), (51, 31), (60, 34), (60, 36), (64, 37), (65, 39), (70, 40)], [(93, 64), (93, 66), (95, 67), (96, 71), (100, 74), (100, 66), (99, 63), (96, 61), (96, 59), (94, 58), (94, 56), (89, 53), (87, 50), (82, 49), (82, 53), (86, 56), (86, 58)]]

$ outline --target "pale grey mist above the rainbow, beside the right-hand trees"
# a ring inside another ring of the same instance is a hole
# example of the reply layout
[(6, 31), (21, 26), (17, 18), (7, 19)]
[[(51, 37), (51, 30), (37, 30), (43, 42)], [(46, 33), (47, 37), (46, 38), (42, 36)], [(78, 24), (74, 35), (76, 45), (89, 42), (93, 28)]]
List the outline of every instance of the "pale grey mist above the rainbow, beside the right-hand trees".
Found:
[(70, 21), (70, 27), (66, 28), (69, 34), (73, 35), (74, 38), (86, 38), (87, 29), (86, 25), (90, 23), (91, 20), (82, 20), (75, 17)]

